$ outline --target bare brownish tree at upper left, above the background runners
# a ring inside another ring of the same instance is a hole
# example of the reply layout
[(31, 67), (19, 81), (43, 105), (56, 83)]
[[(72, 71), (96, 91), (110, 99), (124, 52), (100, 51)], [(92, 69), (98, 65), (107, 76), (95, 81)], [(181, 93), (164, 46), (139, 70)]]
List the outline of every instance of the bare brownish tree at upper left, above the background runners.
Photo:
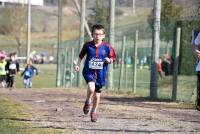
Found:
[(26, 9), (20, 5), (3, 8), (1, 11), (0, 34), (7, 35), (17, 43), (18, 54), (25, 44)]

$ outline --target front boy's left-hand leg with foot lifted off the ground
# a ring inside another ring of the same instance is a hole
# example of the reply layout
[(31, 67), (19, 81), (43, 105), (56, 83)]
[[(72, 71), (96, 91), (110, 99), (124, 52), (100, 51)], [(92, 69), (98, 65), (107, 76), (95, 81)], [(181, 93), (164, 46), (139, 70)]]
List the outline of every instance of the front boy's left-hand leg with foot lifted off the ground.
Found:
[(88, 114), (90, 111), (90, 103), (95, 91), (95, 82), (88, 82), (87, 97), (85, 105), (83, 107), (84, 114)]

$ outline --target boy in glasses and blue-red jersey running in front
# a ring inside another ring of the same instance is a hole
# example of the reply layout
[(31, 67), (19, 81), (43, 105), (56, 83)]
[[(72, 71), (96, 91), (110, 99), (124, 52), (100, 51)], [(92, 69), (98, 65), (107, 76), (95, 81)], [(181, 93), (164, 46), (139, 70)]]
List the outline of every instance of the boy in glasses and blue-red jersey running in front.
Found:
[(96, 122), (101, 88), (106, 85), (108, 64), (115, 61), (116, 54), (115, 50), (107, 42), (103, 41), (105, 29), (102, 25), (97, 24), (92, 27), (92, 36), (93, 41), (83, 45), (75, 70), (79, 71), (81, 60), (86, 55), (82, 74), (88, 85), (88, 90), (83, 112), (88, 114), (91, 103), (93, 103), (90, 117), (92, 122)]

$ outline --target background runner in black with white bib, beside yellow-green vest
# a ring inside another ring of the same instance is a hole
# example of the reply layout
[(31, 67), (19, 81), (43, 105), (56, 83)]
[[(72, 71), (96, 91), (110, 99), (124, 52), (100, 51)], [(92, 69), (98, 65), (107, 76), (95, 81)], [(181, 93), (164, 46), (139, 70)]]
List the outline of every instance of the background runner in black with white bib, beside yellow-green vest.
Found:
[(15, 82), (15, 75), (19, 73), (19, 63), (16, 59), (17, 54), (10, 53), (9, 54), (10, 59), (6, 63), (6, 83), (7, 83), (7, 88), (12, 90)]

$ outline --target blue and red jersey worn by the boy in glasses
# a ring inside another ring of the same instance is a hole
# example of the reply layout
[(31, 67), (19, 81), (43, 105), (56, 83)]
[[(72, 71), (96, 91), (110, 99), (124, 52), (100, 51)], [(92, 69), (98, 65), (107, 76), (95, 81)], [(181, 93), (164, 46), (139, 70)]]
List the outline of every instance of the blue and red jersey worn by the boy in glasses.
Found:
[(115, 50), (107, 42), (102, 42), (99, 46), (95, 46), (94, 41), (87, 42), (79, 54), (79, 58), (83, 59), (86, 55), (86, 60), (83, 68), (83, 77), (86, 82), (94, 81), (97, 86), (105, 86), (108, 63), (105, 58), (108, 57), (115, 61)]

